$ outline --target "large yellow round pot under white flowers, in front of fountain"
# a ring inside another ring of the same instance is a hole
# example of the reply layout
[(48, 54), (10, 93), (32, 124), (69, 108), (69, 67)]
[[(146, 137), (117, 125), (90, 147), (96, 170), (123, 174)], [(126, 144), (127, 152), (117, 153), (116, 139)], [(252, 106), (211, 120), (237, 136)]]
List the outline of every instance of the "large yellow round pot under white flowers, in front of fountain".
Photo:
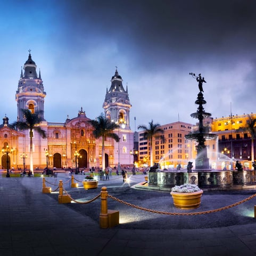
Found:
[(174, 206), (180, 209), (194, 209), (200, 206), (203, 191), (192, 193), (171, 192)]

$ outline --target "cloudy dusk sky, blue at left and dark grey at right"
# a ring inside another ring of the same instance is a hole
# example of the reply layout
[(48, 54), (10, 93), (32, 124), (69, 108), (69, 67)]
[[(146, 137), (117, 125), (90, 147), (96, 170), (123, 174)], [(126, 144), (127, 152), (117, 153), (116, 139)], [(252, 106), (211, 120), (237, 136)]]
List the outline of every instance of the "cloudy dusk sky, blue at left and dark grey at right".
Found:
[[(1, 115), (16, 120), (21, 66), (41, 71), (45, 118), (103, 112), (115, 66), (128, 85), (131, 129), (195, 123), (202, 73), (213, 118), (255, 113), (256, 1), (1, 0)], [(136, 117), (136, 123), (134, 121)]]

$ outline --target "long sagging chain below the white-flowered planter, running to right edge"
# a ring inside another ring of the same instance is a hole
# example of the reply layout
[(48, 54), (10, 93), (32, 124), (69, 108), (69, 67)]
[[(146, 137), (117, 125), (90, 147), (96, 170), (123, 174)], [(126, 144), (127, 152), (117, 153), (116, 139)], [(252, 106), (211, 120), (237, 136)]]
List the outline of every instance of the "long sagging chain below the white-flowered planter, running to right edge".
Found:
[(123, 203), (123, 204), (126, 204), (126, 205), (129, 205), (130, 207), (134, 207), (136, 209), (139, 209), (139, 210), (143, 210), (143, 211), (148, 211), (148, 212), (153, 212), (153, 213), (160, 213), (160, 214), (166, 214), (166, 215), (198, 215), (198, 214), (205, 214), (205, 213), (212, 213), (212, 212), (218, 212), (218, 211), (222, 211), (222, 210), (226, 210), (226, 209), (229, 209), (229, 208), (232, 208), (232, 207), (235, 207), (236, 205), (238, 204), (241, 204), (241, 203), (244, 203), (246, 201), (249, 201), (251, 199), (253, 199), (253, 197), (255, 197), (256, 194), (253, 194), (249, 197), (247, 197), (246, 199), (240, 201), (240, 202), (237, 202), (237, 203), (234, 203), (234, 204), (231, 204), (231, 205), (228, 205), (226, 207), (221, 207), (221, 208), (218, 208), (218, 209), (214, 209), (214, 210), (209, 210), (209, 211), (201, 211), (201, 212), (165, 212), (165, 211), (156, 211), (156, 210), (151, 210), (151, 209), (147, 209), (147, 208), (143, 208), (143, 207), (138, 207), (137, 205), (135, 204), (131, 204), (131, 203), (127, 203), (123, 200), (120, 200), (118, 199), (117, 197), (114, 197), (112, 195), (108, 195), (108, 197), (110, 197), (111, 199), (115, 200), (115, 201), (118, 201), (119, 203)]

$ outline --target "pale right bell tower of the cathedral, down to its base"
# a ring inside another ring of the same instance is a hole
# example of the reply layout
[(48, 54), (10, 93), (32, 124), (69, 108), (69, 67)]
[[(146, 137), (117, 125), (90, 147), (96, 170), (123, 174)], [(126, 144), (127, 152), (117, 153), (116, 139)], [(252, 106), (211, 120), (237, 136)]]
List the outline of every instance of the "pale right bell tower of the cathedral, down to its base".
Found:
[(119, 128), (114, 132), (119, 136), (120, 141), (114, 142), (114, 165), (131, 166), (133, 164), (133, 156), (130, 151), (134, 148), (134, 133), (130, 129), (130, 100), (128, 88), (126, 90), (122, 85), (122, 77), (119, 75), (117, 68), (114, 76), (111, 78), (110, 89), (106, 89), (105, 101), (103, 109), (106, 118), (117, 123)]

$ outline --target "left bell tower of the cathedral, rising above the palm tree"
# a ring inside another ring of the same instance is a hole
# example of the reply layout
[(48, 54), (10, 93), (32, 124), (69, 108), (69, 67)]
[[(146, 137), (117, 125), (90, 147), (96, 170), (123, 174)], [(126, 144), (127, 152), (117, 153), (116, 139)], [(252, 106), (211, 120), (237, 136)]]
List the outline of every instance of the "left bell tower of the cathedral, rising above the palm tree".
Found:
[(21, 69), (18, 90), (16, 90), (15, 95), (18, 106), (18, 121), (24, 121), (22, 109), (29, 109), (32, 113), (42, 111), (42, 118), (44, 119), (44, 98), (46, 92), (44, 92), (41, 73), (39, 71), (39, 76), (37, 76), (36, 67), (36, 63), (32, 60), (29, 50), (28, 60), (24, 63), (23, 67), (24, 75)]

